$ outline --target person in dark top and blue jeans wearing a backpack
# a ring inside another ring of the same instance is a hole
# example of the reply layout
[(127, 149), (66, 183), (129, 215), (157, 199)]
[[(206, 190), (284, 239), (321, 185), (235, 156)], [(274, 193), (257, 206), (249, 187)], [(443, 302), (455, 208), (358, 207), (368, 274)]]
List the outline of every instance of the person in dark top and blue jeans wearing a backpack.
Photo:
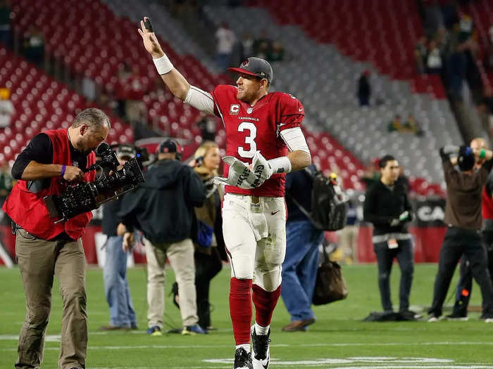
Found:
[(323, 231), (316, 228), (304, 214), (311, 212), (311, 189), (315, 170), (311, 164), (306, 170), (292, 171), (286, 175), (286, 257), (282, 264), (281, 297), (291, 315), (291, 323), (282, 330), (306, 330), (315, 323), (311, 300), (318, 269), (318, 245)]

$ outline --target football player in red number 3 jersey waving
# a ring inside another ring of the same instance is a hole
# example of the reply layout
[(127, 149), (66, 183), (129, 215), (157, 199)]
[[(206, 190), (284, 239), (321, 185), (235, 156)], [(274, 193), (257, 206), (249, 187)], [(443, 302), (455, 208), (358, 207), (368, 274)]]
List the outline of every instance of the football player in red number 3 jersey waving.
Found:
[[(216, 183), (225, 184), (226, 193), (223, 233), (231, 263), (234, 368), (267, 369), (270, 320), (280, 296), (286, 249), (285, 174), (311, 164), (301, 131), (303, 105), (289, 93), (269, 92), (273, 71), (261, 58), (248, 58), (238, 68), (230, 68), (239, 75), (236, 86), (202, 91), (173, 67), (149, 18), (141, 21), (139, 34), (171, 93), (223, 120), (227, 176), (216, 177)], [(250, 327), (252, 299), (256, 316)]]

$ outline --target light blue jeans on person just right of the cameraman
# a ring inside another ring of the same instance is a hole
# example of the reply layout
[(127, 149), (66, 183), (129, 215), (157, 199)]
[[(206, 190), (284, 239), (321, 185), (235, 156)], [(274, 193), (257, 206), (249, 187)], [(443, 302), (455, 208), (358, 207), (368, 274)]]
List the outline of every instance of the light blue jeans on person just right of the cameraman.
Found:
[(137, 325), (127, 280), (127, 253), (122, 249), (123, 237), (106, 240), (106, 261), (103, 268), (104, 293), (110, 306), (110, 324), (118, 327)]

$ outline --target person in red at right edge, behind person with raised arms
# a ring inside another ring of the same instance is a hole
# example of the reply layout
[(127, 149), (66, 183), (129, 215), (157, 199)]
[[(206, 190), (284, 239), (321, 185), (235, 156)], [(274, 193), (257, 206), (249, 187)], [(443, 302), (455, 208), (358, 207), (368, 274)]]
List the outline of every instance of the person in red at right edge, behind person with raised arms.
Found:
[[(470, 148), (473, 150), (487, 149), (484, 138), (474, 138), (470, 141)], [(481, 169), (485, 160), (476, 157), (474, 170)], [(490, 278), (493, 277), (493, 172), (489, 173), (487, 183), (482, 188), (482, 241), (486, 247), (488, 255), (488, 270)], [(456, 288), (456, 302), (454, 310), (447, 319), (467, 320), (468, 304), (473, 288), (473, 273), (471, 263), (466, 257), (461, 257), (461, 277)]]

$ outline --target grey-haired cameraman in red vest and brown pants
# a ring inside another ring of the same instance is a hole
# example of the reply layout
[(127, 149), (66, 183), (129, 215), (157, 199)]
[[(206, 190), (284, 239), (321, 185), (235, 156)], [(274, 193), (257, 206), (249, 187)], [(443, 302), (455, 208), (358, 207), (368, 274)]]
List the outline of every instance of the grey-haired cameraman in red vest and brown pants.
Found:
[(94, 181), (93, 150), (106, 139), (108, 117), (99, 109), (82, 110), (68, 129), (44, 131), (17, 157), (12, 176), (18, 179), (4, 203), (15, 230), (15, 250), (26, 297), (27, 314), (18, 342), (16, 368), (39, 368), (44, 332), (51, 311), (54, 275), (63, 297), (58, 368), (85, 368), (87, 310), (85, 254), (80, 239), (91, 212), (54, 224), (43, 198), (60, 193), (65, 181)]

